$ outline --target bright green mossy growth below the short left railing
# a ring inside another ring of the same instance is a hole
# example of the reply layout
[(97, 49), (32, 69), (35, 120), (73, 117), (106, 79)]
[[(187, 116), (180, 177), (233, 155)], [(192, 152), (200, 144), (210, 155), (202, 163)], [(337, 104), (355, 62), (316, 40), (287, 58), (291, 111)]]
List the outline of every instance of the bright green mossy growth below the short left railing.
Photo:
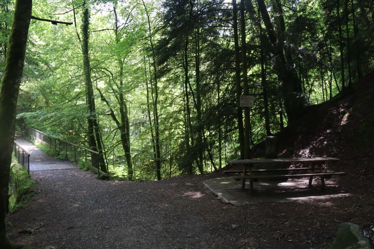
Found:
[(10, 171), (13, 181), (9, 182), (9, 212), (12, 213), (30, 202), (36, 181), (30, 178), (27, 170), (15, 158), (12, 159)]

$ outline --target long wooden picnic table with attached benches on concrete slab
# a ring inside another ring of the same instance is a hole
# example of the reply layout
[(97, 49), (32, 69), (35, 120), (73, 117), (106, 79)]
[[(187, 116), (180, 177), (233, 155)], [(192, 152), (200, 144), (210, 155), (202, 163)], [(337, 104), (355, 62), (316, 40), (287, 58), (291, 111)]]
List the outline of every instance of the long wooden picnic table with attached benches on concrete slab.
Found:
[[(325, 190), (325, 179), (324, 177), (331, 175), (345, 175), (346, 172), (323, 172), (322, 165), (327, 162), (339, 161), (338, 158), (270, 158), (270, 159), (244, 159), (244, 160), (226, 160), (227, 164), (230, 165), (242, 165), (243, 170), (228, 170), (225, 173), (241, 173), (240, 176), (234, 176), (236, 180), (242, 180), (242, 189), (245, 186), (245, 180), (249, 179), (251, 192), (253, 193), (253, 180), (255, 179), (267, 179), (267, 178), (296, 178), (296, 177), (309, 177), (309, 187), (312, 187), (313, 176), (319, 176), (321, 178), (322, 189)], [(304, 168), (281, 168), (281, 169), (257, 169), (253, 170), (254, 164), (272, 164), (272, 163), (310, 163), (310, 167)], [(318, 165), (318, 171), (315, 170), (315, 166)], [(271, 172), (274, 171), (273, 175), (255, 175), (257, 172)], [(281, 174), (280, 172), (287, 171), (307, 171), (305, 174)]]

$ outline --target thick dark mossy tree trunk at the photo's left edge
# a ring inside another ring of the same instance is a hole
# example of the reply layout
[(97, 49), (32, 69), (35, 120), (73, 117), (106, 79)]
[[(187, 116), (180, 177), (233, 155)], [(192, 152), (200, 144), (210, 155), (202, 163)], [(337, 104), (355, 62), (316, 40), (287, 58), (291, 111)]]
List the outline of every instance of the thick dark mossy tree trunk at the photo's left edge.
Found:
[(15, 3), (12, 30), (9, 36), (6, 64), (0, 95), (0, 248), (11, 248), (6, 235), (6, 211), (16, 106), (26, 53), (28, 27), (31, 19), (31, 0)]

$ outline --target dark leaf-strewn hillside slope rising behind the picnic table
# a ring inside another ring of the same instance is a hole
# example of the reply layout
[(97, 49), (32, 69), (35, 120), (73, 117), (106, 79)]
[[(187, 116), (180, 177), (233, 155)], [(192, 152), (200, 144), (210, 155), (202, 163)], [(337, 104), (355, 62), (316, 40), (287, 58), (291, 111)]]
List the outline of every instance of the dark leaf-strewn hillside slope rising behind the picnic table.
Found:
[[(279, 157), (327, 156), (340, 158), (336, 171), (348, 172), (344, 187), (359, 187), (357, 179), (370, 181), (374, 164), (374, 73), (352, 89), (306, 109), (294, 124), (275, 134)], [(264, 156), (264, 143), (252, 156)], [(352, 186), (347, 186), (353, 184)], [(364, 182), (363, 182), (364, 183)]]

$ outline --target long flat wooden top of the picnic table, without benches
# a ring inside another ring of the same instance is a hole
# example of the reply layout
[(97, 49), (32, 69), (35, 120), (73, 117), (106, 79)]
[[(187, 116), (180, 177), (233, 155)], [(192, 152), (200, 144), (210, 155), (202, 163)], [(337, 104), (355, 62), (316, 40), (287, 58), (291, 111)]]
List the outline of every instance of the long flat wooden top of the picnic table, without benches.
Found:
[(338, 158), (265, 158), (265, 159), (243, 159), (243, 160), (226, 160), (230, 165), (233, 164), (267, 164), (272, 162), (325, 162), (325, 161), (339, 161)]

